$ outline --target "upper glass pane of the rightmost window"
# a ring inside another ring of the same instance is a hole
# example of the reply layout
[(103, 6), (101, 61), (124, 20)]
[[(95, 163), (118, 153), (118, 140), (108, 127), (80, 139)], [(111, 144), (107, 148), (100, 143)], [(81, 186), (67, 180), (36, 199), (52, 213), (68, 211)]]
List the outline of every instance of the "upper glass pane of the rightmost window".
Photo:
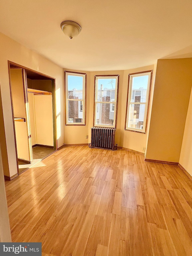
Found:
[(131, 102), (146, 102), (149, 76), (133, 77)]

